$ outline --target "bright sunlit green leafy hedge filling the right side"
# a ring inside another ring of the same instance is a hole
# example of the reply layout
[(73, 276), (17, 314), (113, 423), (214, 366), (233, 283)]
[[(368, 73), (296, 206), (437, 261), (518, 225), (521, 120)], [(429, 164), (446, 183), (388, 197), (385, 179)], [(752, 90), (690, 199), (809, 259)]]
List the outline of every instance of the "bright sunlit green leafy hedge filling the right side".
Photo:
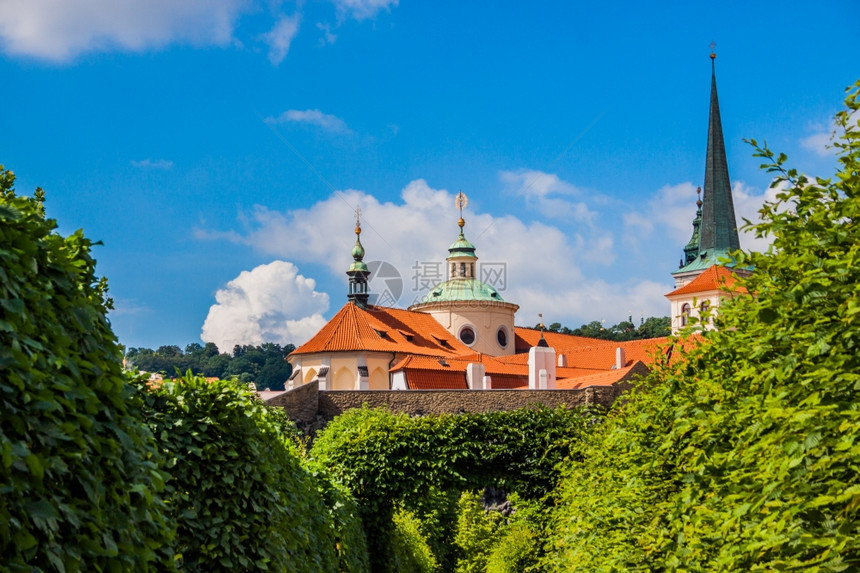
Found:
[(751, 294), (569, 465), (558, 570), (860, 568), (858, 92), (837, 116), (833, 181), (756, 148), (782, 188), (754, 227), (771, 249), (737, 254)]

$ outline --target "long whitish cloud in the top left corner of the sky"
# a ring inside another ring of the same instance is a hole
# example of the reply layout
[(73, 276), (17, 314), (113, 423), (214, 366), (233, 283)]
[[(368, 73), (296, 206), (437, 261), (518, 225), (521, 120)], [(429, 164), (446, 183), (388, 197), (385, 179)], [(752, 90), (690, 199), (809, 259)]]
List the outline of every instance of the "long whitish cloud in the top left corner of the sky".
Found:
[(141, 51), (173, 42), (226, 45), (244, 0), (4, 0), (0, 46), (68, 61), (93, 51)]

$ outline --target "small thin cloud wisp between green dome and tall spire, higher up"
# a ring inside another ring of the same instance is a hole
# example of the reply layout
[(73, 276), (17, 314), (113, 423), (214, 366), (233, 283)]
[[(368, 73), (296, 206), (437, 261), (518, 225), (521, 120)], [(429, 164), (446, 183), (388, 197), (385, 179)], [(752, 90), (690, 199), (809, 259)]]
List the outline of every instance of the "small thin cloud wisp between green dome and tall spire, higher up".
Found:
[(528, 207), (536, 209), (545, 217), (573, 219), (591, 224), (595, 213), (583, 201), (572, 201), (582, 192), (576, 186), (563, 181), (553, 173), (533, 169), (502, 171), (499, 174), (508, 191), (525, 198)]

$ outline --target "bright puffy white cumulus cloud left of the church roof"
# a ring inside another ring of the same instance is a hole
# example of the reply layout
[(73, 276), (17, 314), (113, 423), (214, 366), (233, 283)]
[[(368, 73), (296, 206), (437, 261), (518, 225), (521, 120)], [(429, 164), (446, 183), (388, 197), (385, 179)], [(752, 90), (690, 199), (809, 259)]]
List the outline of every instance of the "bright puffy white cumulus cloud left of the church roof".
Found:
[(329, 298), (315, 288), (286, 261), (242, 271), (215, 293), (200, 338), (222, 352), (236, 344), (302, 344), (326, 322)]

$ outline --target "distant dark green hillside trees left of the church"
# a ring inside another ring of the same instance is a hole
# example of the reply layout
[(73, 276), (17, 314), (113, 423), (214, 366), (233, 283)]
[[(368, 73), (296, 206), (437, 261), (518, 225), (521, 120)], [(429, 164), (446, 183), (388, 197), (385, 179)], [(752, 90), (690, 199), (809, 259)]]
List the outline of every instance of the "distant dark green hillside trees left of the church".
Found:
[(214, 378), (236, 377), (241, 382), (253, 382), (258, 389), (283, 390), (284, 383), (292, 374), (287, 355), (295, 350), (292, 344), (281, 346), (267, 342), (262, 346), (233, 347), (232, 354), (222, 354), (218, 347), (192, 343), (183, 352), (178, 346), (159, 346), (158, 349), (129, 348), (126, 362), (144, 372), (159, 372), (173, 376), (191, 370), (199, 376)]

